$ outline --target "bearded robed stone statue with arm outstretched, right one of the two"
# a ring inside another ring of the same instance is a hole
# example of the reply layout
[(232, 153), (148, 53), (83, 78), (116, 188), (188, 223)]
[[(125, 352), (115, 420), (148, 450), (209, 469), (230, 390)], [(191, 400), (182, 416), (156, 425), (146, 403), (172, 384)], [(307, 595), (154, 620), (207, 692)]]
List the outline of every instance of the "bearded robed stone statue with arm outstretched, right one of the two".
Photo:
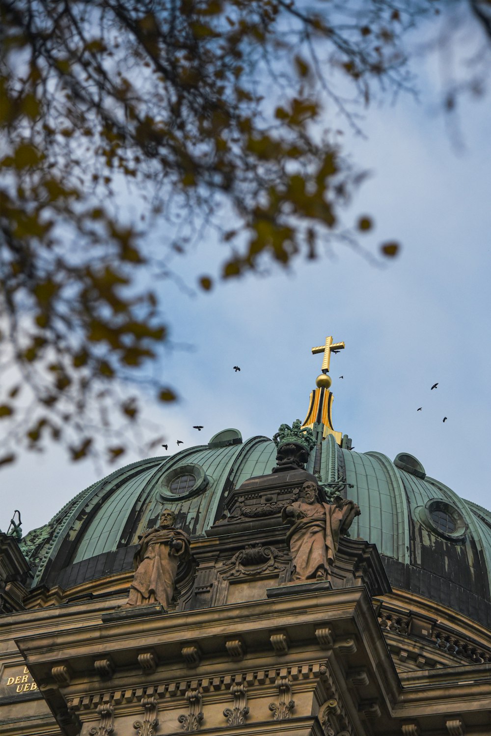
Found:
[(333, 503), (320, 503), (317, 484), (305, 481), (301, 498), (282, 511), (283, 521), (292, 525), (287, 533), (292, 580), (330, 580), (340, 536), (358, 515), (359, 506), (340, 496)]

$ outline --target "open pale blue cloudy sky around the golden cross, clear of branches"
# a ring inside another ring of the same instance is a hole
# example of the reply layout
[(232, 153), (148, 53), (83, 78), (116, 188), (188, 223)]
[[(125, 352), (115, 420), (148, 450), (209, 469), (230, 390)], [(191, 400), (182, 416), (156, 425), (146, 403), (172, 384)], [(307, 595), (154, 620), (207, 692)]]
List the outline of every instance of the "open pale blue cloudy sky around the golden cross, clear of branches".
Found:
[[(356, 162), (373, 174), (346, 222), (373, 216), (376, 229), (362, 240), (372, 252), (381, 241), (401, 241), (387, 267), (337, 247), (334, 259), (221, 283), (195, 298), (162, 285), (171, 339), (193, 346), (169, 350), (159, 367), (179, 403), (146, 403), (169, 450), (177, 439), (188, 447), (227, 427), (244, 438), (272, 436), (280, 423), (303, 420), (321, 364), (310, 349), (332, 334), (346, 344), (331, 358), (334, 427), (356, 451), (414, 454), (428, 475), (490, 507), (490, 99), (465, 102), (457, 150), (444, 117), (434, 114), (435, 64), (420, 66), (420, 102), (407, 96), (374, 107), (367, 137), (349, 141)], [(218, 273), (221, 260), (201, 247), (177, 268), (194, 283), (203, 272)], [(0, 528), (14, 508), (24, 532), (46, 523), (113, 468), (72, 464), (57, 448), (25, 456), (1, 471)]]

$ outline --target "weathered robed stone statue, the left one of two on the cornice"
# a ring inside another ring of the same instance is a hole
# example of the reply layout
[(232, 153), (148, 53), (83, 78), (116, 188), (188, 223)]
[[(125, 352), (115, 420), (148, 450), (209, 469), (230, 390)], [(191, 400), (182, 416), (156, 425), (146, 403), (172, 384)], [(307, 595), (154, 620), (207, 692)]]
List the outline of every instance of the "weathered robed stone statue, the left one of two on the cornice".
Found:
[(165, 509), (160, 515), (160, 526), (149, 529), (140, 538), (126, 606), (161, 604), (168, 611), (179, 562), (190, 557), (190, 539), (184, 531), (174, 527), (175, 523), (176, 514)]

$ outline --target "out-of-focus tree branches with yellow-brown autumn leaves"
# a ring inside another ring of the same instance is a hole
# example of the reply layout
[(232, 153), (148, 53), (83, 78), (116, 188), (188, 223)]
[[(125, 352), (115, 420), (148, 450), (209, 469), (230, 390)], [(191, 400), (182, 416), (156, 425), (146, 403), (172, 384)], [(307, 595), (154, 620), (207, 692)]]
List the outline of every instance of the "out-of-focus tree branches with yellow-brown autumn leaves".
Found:
[(140, 437), (135, 384), (176, 400), (148, 370), (168, 340), (155, 285), (193, 226), (223, 244), (223, 278), (372, 229), (367, 215), (342, 225), (364, 174), (339, 129), (358, 126), (352, 103), (411, 87), (403, 39), (438, 6), (1, 1), (0, 465), (49, 441), (118, 459), (128, 428)]

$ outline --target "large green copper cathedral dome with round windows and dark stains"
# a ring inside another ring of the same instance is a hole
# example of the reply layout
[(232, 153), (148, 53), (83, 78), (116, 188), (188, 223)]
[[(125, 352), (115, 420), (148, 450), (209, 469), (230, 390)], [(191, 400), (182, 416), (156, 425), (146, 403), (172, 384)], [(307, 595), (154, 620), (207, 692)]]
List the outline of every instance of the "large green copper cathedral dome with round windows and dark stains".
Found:
[[(270, 473), (275, 459), (272, 440), (243, 442), (229, 429), (207, 445), (116, 470), (26, 535), (33, 587), (68, 590), (130, 570), (138, 535), (154, 526), (162, 506), (176, 512), (177, 526), (191, 537), (204, 537), (229, 492)], [(359, 504), (351, 537), (376, 545), (393, 587), (491, 625), (490, 512), (429, 478), (409, 453), (394, 461), (379, 452), (357, 453), (340, 447), (333, 434), (313, 448), (306, 470), (326, 490), (341, 481), (343, 495)]]

